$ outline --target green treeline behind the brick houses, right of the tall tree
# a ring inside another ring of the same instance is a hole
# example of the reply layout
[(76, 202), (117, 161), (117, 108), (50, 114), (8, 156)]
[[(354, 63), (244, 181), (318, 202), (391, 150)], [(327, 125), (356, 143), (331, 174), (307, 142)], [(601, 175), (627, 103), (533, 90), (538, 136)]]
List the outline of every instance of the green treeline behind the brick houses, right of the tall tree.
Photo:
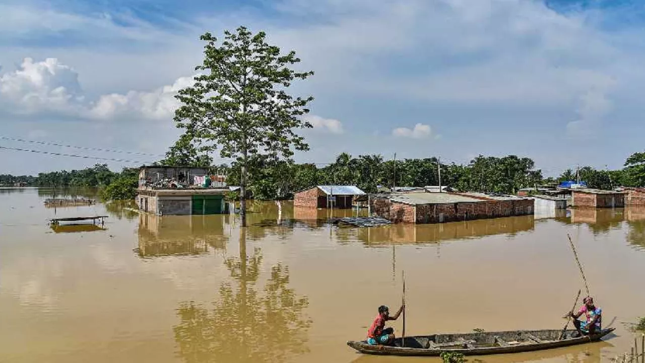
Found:
[[(530, 158), (515, 155), (501, 158), (477, 156), (466, 165), (441, 163), (441, 185), (461, 191), (499, 192), (515, 194), (519, 189), (537, 185), (553, 185), (564, 180), (576, 180), (577, 176), (588, 187), (612, 189), (617, 186), (645, 185), (645, 153), (633, 154), (624, 169), (617, 171), (597, 170), (582, 167), (578, 171), (568, 169), (558, 178), (544, 178), (540, 169)], [(226, 169), (228, 183), (239, 180), (239, 165)], [(437, 158), (384, 160), (381, 155), (361, 155), (353, 158), (342, 153), (325, 167), (313, 164), (295, 164), (270, 161), (261, 156), (253, 159), (249, 174), (249, 190), (257, 199), (290, 198), (294, 191), (312, 185), (357, 185), (363, 191), (375, 192), (377, 185), (386, 187), (423, 187), (439, 185)]]

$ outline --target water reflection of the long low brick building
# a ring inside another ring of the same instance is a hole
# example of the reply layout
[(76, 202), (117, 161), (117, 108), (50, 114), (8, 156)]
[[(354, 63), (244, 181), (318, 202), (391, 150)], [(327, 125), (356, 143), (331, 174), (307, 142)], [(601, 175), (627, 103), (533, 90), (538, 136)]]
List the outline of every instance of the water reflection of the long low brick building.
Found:
[(535, 227), (533, 216), (515, 216), (488, 220), (470, 220), (437, 224), (392, 224), (386, 227), (353, 229), (357, 239), (370, 245), (394, 243), (435, 243), (446, 240), (480, 238), (494, 234), (531, 231)]

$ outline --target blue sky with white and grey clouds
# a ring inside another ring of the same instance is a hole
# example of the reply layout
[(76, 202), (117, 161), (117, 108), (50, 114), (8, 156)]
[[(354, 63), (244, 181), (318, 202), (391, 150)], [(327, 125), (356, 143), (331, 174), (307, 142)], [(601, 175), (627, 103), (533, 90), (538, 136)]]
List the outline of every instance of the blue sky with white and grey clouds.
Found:
[(0, 0), (0, 147), (86, 157), (0, 148), (0, 174), (161, 159), (199, 36), (239, 25), (315, 72), (290, 87), (315, 98), (296, 161), (515, 154), (557, 176), (645, 149), (639, 0)]

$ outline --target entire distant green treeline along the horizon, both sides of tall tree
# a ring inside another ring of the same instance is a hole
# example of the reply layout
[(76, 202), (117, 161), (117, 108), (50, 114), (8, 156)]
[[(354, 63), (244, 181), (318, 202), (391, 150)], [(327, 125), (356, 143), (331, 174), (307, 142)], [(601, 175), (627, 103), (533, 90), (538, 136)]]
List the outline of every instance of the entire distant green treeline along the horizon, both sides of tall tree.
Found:
[[(166, 160), (160, 162), (168, 165)], [(200, 166), (203, 158), (195, 156), (181, 160), (183, 165)], [(265, 156), (253, 156), (249, 168), (248, 187), (253, 198), (262, 200), (284, 199), (312, 185), (357, 185), (366, 192), (377, 191), (377, 185), (391, 187), (423, 187), (439, 185), (437, 158), (384, 160), (381, 155), (361, 155), (353, 158), (342, 153), (333, 163), (317, 167), (310, 163), (272, 161)], [(559, 183), (563, 180), (580, 180), (597, 189), (617, 186), (640, 187), (645, 185), (645, 152), (637, 152), (620, 170), (598, 170), (582, 167), (568, 169), (558, 178), (544, 178), (530, 158), (509, 155), (501, 158), (477, 156), (466, 165), (441, 163), (441, 184), (461, 191), (500, 192), (515, 194), (519, 189)], [(228, 175), (228, 184), (240, 180), (239, 164), (213, 165), (213, 172)], [(40, 173), (38, 176), (1, 175), (0, 185), (25, 182), (41, 187), (104, 187), (108, 199), (134, 198), (137, 187), (137, 170), (124, 169), (113, 172), (107, 165), (74, 170)]]

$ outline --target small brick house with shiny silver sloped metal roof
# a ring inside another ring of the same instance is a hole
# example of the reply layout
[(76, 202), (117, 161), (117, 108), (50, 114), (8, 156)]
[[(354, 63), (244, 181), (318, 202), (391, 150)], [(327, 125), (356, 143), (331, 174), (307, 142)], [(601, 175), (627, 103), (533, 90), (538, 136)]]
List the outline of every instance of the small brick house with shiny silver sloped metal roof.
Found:
[(353, 200), (364, 194), (355, 185), (316, 185), (293, 194), (293, 206), (350, 209)]

